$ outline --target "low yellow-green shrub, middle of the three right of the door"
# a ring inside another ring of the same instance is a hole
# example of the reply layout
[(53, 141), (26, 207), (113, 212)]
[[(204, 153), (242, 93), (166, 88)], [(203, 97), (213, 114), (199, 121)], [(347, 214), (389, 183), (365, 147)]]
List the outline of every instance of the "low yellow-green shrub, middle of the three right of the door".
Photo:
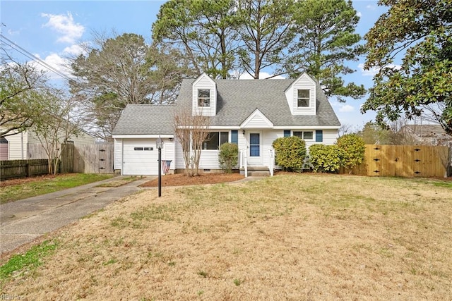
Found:
[(311, 145), (309, 163), (316, 173), (337, 173), (343, 161), (343, 151), (337, 145)]

